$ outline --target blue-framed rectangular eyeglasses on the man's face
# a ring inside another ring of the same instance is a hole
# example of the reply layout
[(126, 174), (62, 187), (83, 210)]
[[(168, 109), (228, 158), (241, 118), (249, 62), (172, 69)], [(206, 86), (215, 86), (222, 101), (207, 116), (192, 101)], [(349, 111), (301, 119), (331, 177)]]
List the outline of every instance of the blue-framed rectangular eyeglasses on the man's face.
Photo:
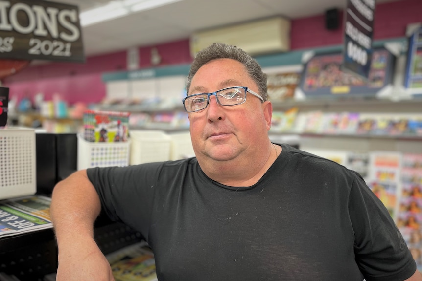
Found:
[(246, 101), (247, 92), (256, 96), (261, 102), (264, 102), (264, 99), (260, 95), (251, 91), (248, 87), (230, 87), (213, 93), (194, 94), (187, 96), (182, 102), (186, 112), (197, 112), (207, 108), (210, 103), (210, 96), (215, 96), (217, 103), (221, 106), (235, 106), (243, 104)]

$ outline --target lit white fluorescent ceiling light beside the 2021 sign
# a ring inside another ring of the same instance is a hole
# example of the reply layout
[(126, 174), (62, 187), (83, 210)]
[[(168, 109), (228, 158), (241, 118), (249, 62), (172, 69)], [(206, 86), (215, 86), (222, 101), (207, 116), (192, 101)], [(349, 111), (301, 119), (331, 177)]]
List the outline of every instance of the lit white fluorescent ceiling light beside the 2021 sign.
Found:
[(81, 12), (79, 18), (82, 26), (88, 26), (178, 1), (182, 0), (113, 0), (103, 6)]

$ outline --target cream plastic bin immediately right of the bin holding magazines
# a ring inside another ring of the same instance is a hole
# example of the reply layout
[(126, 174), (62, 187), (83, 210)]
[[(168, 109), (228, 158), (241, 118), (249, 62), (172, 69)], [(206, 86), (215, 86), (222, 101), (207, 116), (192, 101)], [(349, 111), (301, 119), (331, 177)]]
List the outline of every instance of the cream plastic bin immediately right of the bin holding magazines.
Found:
[(130, 130), (130, 165), (170, 160), (171, 138), (161, 130)]

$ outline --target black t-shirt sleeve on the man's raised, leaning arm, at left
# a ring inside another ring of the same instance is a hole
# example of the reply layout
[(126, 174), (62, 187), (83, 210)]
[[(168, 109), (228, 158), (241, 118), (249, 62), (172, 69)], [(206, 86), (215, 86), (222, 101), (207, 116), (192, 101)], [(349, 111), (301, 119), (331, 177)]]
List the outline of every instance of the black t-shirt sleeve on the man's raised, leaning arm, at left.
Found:
[(112, 220), (122, 221), (146, 238), (159, 163), (87, 169), (87, 175)]

